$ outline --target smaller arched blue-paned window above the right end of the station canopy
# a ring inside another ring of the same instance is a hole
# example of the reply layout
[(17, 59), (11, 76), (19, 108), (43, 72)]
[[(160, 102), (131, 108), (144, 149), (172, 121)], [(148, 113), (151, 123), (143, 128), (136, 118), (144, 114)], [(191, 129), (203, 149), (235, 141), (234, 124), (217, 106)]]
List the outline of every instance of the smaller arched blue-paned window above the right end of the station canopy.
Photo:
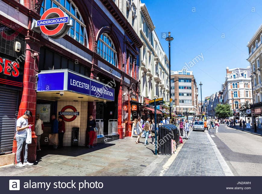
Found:
[(97, 54), (112, 65), (117, 65), (117, 52), (111, 38), (102, 34), (97, 42)]

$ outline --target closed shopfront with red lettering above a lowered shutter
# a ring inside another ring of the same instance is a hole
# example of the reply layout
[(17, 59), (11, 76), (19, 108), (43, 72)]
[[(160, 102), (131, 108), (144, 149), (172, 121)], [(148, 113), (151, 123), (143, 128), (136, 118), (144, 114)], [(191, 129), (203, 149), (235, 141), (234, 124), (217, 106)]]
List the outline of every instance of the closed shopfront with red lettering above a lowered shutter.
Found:
[(0, 154), (8, 154), (12, 152), (23, 89), (25, 38), (0, 23), (0, 44)]

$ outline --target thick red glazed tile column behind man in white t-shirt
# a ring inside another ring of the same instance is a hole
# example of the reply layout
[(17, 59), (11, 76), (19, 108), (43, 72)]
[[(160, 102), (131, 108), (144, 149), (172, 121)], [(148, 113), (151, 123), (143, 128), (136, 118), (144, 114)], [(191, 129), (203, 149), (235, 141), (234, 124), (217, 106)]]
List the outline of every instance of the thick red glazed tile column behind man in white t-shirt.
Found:
[[(38, 70), (38, 58), (36, 60), (32, 57), (32, 52), (39, 53), (40, 47), (38, 45), (33, 45), (27, 42), (26, 45), (26, 56), (25, 65), (23, 73), (23, 93), (21, 103), (19, 105), (17, 118), (23, 116), (25, 111), (31, 111), (32, 117), (28, 119), (28, 124), (33, 124), (32, 130), (32, 144), (28, 146), (28, 156), (29, 162), (36, 161), (36, 133), (35, 133), (35, 116), (36, 116), (36, 74)], [(36, 70), (35, 70), (36, 69)], [(13, 153), (17, 151), (16, 139), (14, 137), (13, 141)], [(15, 158), (16, 163), (16, 158)]]

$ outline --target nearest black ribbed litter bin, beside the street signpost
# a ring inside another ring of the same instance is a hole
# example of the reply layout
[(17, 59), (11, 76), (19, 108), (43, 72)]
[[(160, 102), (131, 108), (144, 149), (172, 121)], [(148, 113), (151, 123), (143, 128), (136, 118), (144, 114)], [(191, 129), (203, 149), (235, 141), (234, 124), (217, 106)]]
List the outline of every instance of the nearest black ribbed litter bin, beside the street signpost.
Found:
[(169, 125), (158, 126), (158, 154), (172, 155), (172, 129)]

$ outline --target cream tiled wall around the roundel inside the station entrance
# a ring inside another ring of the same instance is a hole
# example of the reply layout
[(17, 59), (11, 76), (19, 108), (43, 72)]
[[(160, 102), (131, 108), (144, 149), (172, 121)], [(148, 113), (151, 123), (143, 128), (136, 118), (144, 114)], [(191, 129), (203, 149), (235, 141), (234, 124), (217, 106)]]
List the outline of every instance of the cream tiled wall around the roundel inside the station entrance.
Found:
[[(85, 145), (86, 140), (86, 122), (87, 122), (87, 102), (66, 102), (66, 101), (59, 101), (57, 103), (57, 115), (58, 112), (64, 106), (72, 105), (76, 108), (79, 112), (79, 116), (76, 117), (75, 120), (72, 122), (65, 121), (65, 134), (64, 134), (64, 141), (63, 146), (71, 146), (71, 136), (72, 136), (72, 128), (79, 127), (79, 146)], [(67, 109), (65, 111), (71, 112), (71, 109)], [(65, 116), (71, 118), (72, 116)]]

